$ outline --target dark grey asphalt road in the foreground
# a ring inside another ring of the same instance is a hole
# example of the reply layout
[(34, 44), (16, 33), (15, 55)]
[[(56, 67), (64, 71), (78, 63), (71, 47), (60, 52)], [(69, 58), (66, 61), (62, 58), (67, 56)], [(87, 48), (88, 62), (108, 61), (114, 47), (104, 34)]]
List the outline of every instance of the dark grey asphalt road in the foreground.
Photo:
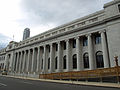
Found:
[(60, 84), (0, 76), (0, 90), (119, 90), (117, 88)]

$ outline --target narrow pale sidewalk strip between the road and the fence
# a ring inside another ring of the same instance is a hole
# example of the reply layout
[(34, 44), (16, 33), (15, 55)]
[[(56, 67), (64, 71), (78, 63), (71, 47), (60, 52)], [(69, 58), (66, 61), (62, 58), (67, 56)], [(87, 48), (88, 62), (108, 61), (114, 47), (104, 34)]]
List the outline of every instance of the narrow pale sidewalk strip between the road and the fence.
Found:
[(46, 82), (54, 82), (54, 83), (65, 83), (65, 84), (76, 84), (76, 85), (89, 85), (89, 86), (98, 86), (98, 87), (112, 87), (112, 88), (120, 88), (120, 83), (103, 83), (103, 82), (82, 82), (82, 81), (63, 81), (63, 80), (48, 80), (48, 79), (37, 79), (37, 78), (29, 78), (29, 77), (18, 77), (18, 76), (9, 76), (12, 78), (19, 79), (28, 79), (28, 80), (38, 80), (38, 81), (46, 81)]

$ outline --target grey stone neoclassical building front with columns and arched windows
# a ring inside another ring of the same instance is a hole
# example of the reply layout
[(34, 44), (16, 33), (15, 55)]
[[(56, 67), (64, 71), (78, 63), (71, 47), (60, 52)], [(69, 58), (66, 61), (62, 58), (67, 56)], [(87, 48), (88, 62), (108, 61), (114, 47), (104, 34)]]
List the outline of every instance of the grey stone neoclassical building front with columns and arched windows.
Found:
[(120, 65), (120, 0), (21, 42), (12, 41), (4, 55), (4, 69), (14, 75), (109, 68), (115, 66), (114, 56)]

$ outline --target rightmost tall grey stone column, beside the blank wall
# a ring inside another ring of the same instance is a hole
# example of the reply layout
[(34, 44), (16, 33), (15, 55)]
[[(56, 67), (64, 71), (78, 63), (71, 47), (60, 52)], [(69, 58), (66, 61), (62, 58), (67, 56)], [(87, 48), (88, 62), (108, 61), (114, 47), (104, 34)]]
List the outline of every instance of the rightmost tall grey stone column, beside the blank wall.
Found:
[(107, 41), (105, 36), (105, 31), (101, 32), (101, 43), (102, 43), (102, 51), (103, 51), (103, 59), (104, 59), (104, 68), (109, 68), (109, 56), (108, 56), (108, 48)]

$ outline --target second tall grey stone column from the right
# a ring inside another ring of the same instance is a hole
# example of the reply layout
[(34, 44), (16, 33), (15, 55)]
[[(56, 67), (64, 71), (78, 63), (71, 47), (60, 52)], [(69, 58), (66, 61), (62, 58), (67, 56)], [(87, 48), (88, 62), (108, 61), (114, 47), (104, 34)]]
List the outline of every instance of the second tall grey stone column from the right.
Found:
[(93, 49), (93, 42), (92, 42), (92, 35), (88, 35), (88, 54), (89, 54), (89, 65), (90, 70), (95, 69), (95, 61), (94, 61), (94, 49)]

